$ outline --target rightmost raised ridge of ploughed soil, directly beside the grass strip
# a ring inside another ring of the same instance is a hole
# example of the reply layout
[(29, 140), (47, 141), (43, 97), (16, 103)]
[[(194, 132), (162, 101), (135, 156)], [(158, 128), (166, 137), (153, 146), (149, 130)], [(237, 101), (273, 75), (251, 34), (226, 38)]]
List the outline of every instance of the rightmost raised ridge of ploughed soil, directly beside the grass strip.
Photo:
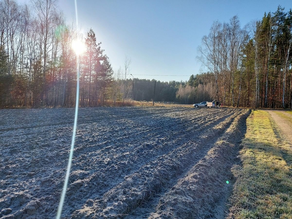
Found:
[(228, 185), (232, 180), (230, 168), (246, 132), (249, 114), (250, 111), (234, 120), (208, 154), (163, 194), (149, 218), (224, 218), (225, 203), (232, 190)]

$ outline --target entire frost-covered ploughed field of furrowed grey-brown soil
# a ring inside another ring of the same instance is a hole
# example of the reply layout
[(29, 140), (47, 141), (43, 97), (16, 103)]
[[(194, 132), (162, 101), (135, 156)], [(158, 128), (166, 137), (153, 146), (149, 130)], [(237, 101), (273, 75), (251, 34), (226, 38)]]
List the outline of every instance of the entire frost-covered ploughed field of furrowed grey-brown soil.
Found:
[[(223, 218), (248, 114), (80, 108), (62, 218)], [(74, 109), (0, 111), (0, 218), (55, 217), (73, 120)]]

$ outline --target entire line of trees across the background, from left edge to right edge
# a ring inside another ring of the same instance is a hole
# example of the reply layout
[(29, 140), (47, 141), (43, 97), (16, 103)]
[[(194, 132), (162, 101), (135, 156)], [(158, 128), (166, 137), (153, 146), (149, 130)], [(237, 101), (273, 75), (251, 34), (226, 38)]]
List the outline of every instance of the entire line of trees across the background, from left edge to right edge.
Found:
[(155, 101), (217, 99), (225, 106), (291, 108), (291, 9), (279, 6), (243, 28), (237, 16), (228, 23), (215, 21), (197, 49), (203, 73), (188, 81), (155, 83), (133, 77), (129, 55), (123, 66), (112, 69), (93, 29), (80, 34), (57, 1), (32, 0), (29, 5), (0, 1), (0, 108), (74, 106), (75, 39), (86, 47), (79, 63), (81, 107), (151, 101), (155, 84)]

